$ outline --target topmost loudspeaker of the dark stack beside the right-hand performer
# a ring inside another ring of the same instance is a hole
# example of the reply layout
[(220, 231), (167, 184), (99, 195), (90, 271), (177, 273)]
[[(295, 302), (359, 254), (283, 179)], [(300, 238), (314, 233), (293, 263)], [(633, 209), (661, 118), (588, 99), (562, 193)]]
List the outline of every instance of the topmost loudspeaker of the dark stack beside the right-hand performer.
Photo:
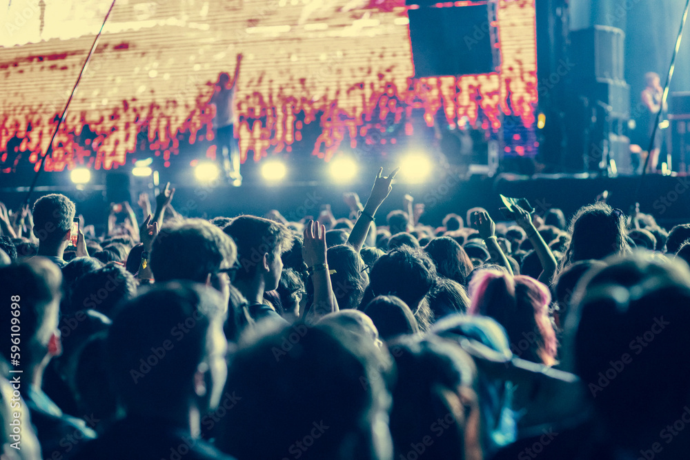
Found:
[(615, 27), (594, 26), (571, 32), (571, 57), (576, 78), (624, 80), (624, 42), (625, 33)]

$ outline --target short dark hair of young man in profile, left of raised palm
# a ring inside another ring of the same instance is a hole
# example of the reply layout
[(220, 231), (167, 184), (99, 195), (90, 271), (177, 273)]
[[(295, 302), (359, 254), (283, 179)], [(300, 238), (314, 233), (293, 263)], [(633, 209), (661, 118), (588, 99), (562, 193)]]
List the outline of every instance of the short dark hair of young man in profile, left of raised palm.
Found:
[(263, 217), (239, 216), (223, 231), (237, 245), (238, 270), (235, 279), (252, 278), (264, 254), (273, 260), (274, 256), (280, 256), (275, 254), (277, 248), (285, 252), (293, 246), (292, 234), (286, 226)]

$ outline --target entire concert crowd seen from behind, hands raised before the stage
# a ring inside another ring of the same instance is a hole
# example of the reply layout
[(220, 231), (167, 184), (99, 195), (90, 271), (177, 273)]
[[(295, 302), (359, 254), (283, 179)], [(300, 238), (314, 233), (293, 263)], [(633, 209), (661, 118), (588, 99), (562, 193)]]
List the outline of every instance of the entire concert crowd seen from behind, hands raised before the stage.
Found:
[(299, 222), (185, 219), (168, 184), (102, 237), (0, 203), (1, 459), (690, 458), (690, 224), (432, 227), (379, 213), (396, 173)]

